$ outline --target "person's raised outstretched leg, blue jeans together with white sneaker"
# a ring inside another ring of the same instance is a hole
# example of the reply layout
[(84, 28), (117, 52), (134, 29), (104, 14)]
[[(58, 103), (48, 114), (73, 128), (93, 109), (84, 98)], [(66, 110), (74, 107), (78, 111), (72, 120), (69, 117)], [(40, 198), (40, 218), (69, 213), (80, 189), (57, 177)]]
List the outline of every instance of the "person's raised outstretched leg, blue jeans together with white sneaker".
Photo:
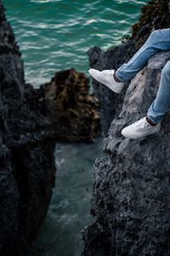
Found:
[(150, 37), (139, 51), (133, 55), (133, 58), (124, 63), (115, 70), (99, 71), (94, 68), (89, 69), (90, 75), (101, 84), (105, 84), (108, 88), (116, 93), (121, 93), (124, 82), (132, 79), (150, 59), (151, 55), (155, 55), (160, 50), (170, 49), (170, 28), (156, 30), (150, 34)]

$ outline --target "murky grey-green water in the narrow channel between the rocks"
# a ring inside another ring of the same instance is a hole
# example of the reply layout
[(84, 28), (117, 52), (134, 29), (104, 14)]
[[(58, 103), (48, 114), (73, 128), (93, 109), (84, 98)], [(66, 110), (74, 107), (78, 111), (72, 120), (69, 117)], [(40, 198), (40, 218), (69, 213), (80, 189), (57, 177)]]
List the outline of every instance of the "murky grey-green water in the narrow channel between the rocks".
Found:
[(54, 194), (31, 256), (80, 256), (81, 230), (92, 221), (94, 160), (102, 156), (102, 138), (95, 144), (56, 145)]

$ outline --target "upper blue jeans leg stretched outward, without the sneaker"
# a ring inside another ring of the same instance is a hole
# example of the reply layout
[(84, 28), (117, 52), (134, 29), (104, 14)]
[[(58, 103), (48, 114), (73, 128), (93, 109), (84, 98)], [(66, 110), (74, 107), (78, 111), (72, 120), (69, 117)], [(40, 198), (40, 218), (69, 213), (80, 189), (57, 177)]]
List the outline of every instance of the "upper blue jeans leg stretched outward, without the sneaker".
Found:
[(122, 64), (116, 71), (116, 77), (122, 82), (133, 79), (149, 61), (150, 56), (160, 50), (170, 49), (170, 28), (152, 32), (145, 44), (133, 55), (132, 59)]

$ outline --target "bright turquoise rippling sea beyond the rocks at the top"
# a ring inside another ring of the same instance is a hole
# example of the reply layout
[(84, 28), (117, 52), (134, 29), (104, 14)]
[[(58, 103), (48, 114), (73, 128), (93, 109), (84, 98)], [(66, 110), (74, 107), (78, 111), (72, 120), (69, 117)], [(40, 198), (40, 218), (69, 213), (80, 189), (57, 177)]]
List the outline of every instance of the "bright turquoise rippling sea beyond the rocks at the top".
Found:
[(119, 44), (139, 18), (146, 0), (3, 0), (35, 87), (56, 71), (75, 67), (88, 73), (87, 50)]

